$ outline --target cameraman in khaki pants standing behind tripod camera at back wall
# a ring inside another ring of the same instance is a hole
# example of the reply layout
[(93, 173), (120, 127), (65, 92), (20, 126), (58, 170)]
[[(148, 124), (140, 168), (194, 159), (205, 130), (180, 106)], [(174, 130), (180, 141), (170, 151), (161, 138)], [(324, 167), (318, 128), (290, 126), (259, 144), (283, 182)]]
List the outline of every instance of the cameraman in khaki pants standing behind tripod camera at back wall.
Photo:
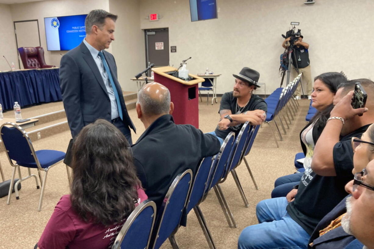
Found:
[[(303, 80), (306, 82), (307, 87), (307, 94), (308, 99), (312, 99), (310, 96), (312, 94), (312, 74), (310, 73), (310, 61), (309, 61), (309, 44), (306, 42), (303, 42), (303, 36), (298, 37), (298, 40), (294, 43), (294, 53), (295, 58), (297, 62), (297, 67), (299, 68), (299, 73), (303, 73)], [(290, 46), (289, 40), (291, 37), (286, 38), (283, 43), (282, 47), (287, 49), (287, 47)], [(294, 61), (294, 56), (292, 56), (292, 64), (296, 68), (296, 64)], [(295, 91), (296, 98), (295, 99), (301, 99), (301, 83), (297, 86), (297, 89)]]

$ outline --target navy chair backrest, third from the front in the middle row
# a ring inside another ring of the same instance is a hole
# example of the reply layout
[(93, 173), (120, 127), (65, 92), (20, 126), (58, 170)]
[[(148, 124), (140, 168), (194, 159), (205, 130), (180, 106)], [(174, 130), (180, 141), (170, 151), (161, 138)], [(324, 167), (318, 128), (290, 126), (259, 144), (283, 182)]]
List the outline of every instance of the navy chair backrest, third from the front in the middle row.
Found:
[(188, 197), (186, 213), (190, 212), (204, 196), (206, 184), (208, 183), (209, 176), (212, 174), (211, 171), (214, 162), (212, 159), (213, 157), (205, 157), (197, 169), (190, 196)]

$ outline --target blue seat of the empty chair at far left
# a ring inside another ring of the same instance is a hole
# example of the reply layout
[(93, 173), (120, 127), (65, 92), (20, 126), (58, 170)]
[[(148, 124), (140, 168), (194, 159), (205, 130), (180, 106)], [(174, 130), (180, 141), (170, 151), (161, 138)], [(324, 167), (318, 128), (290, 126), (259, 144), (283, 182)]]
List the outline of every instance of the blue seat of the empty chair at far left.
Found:
[[(61, 161), (65, 158), (65, 153), (58, 150), (38, 150), (35, 151), (37, 158), (39, 159), (40, 166), (43, 169)], [(37, 168), (36, 163), (22, 163), (17, 162), (19, 166)]]

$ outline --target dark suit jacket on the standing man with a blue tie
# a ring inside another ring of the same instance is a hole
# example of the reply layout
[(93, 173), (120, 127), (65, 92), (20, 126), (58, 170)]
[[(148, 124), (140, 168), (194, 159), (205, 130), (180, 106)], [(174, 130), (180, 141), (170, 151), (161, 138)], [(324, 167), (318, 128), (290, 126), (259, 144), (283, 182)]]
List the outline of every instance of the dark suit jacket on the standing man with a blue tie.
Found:
[[(103, 53), (119, 93), (123, 123), (135, 132), (117, 80), (116, 61), (111, 53)], [(107, 89), (91, 53), (83, 42), (62, 56), (59, 77), (62, 101), (73, 137), (78, 135), (83, 126), (96, 119), (102, 118), (110, 122), (111, 106)]]

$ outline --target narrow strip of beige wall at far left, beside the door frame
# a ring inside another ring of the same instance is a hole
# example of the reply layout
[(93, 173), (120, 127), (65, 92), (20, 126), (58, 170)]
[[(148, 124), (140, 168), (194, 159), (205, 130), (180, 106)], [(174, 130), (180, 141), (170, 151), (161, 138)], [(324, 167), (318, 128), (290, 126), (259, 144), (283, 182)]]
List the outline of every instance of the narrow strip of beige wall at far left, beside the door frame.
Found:
[(9, 65), (3, 58), (7, 58), (9, 63), (14, 62), (18, 67), (16, 39), (12, 22), (12, 14), (7, 4), (0, 4), (0, 71), (10, 70)]

